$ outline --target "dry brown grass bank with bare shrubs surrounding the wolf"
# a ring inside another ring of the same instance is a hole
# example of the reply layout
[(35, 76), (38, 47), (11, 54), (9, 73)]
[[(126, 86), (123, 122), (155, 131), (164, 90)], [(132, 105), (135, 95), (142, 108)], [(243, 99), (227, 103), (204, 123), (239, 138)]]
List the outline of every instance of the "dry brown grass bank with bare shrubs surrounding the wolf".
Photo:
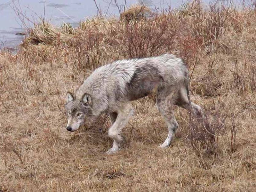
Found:
[[(158, 148), (168, 130), (154, 96), (133, 102), (115, 155), (107, 116), (66, 131), (66, 92), (93, 69), (167, 52), (186, 61), (206, 114), (175, 108), (169, 148)], [(255, 62), (255, 6), (35, 25), (16, 54), (0, 52), (0, 191), (256, 191)]]

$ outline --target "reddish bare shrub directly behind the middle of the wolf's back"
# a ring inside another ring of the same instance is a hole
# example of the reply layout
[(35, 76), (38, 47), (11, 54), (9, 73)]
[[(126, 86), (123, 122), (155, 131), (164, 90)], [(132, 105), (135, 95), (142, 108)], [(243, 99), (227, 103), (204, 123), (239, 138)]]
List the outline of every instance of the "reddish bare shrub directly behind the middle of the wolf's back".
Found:
[[(179, 21), (178, 21), (179, 22)], [(177, 25), (176, 25), (177, 24)], [(178, 32), (177, 20), (171, 14), (154, 15), (147, 21), (125, 24), (113, 44), (121, 44), (120, 54), (130, 58), (159, 55), (173, 49)]]

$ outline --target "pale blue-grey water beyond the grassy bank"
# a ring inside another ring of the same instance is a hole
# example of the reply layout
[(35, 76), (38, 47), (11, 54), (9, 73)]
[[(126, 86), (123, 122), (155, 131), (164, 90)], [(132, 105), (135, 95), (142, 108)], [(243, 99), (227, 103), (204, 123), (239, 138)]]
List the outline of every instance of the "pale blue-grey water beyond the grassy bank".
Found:
[[(177, 8), (187, 0), (126, 0), (126, 7), (143, 1), (151, 8)], [(72, 3), (71, 3), (72, 2)], [(105, 15), (119, 15), (114, 4), (115, 0), (96, 0), (98, 7)], [(112, 3), (111, 3), (112, 2)], [(117, 0), (119, 5), (124, 0)], [(205, 0), (207, 2), (207, 0)], [(22, 14), (14, 11), (18, 9)], [(33, 23), (39, 21), (44, 15), (44, 0), (0, 0), (0, 49), (4, 47), (15, 47), (21, 43), (23, 36), (16, 35), (24, 33), (26, 27), (33, 27)], [(69, 22), (76, 27), (79, 21), (97, 15), (97, 7), (93, 0), (46, 0), (45, 20), (52, 24), (60, 25)], [(27, 19), (24, 18), (27, 17)], [(29, 21), (30, 20), (30, 21)]]

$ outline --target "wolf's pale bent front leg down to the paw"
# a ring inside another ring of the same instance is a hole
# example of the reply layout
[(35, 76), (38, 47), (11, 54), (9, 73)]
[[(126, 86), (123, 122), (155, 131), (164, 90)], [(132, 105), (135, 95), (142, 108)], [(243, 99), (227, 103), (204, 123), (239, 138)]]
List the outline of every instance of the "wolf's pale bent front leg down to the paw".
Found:
[(116, 121), (108, 130), (108, 136), (113, 139), (113, 146), (107, 151), (107, 154), (113, 154), (119, 151), (123, 137), (121, 136), (121, 131), (128, 123), (129, 118), (133, 114), (132, 105), (123, 104), (117, 112)]

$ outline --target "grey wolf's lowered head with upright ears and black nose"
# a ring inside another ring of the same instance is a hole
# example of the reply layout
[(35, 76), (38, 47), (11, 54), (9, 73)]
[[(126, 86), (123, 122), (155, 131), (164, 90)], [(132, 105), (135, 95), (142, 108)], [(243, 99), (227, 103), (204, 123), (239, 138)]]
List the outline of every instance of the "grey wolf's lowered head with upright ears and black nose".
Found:
[(68, 116), (68, 131), (76, 131), (86, 120), (92, 117), (92, 98), (84, 94), (81, 100), (77, 100), (72, 93), (67, 93), (65, 105)]

